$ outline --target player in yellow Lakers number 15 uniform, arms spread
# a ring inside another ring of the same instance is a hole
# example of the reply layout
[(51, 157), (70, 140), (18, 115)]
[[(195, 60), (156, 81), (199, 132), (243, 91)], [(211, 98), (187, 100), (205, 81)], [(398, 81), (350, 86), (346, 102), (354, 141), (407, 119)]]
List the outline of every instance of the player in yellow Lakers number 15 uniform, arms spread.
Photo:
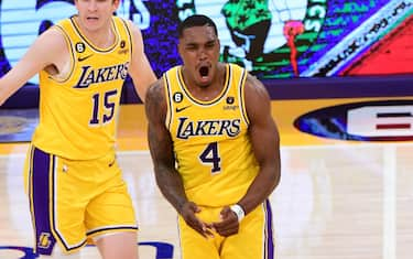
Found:
[(115, 157), (121, 87), (144, 99), (155, 75), (142, 35), (113, 17), (119, 0), (75, 0), (78, 13), (45, 31), (0, 79), (0, 104), (40, 73), (40, 123), (26, 187), (41, 257), (79, 258), (93, 240), (105, 259), (137, 259), (137, 222)]

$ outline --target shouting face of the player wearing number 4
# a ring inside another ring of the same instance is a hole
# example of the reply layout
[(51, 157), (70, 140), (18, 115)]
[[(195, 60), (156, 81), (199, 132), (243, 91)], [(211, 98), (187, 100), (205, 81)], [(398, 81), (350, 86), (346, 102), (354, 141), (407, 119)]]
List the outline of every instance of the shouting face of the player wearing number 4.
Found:
[(219, 40), (211, 26), (193, 26), (183, 31), (178, 45), (185, 76), (200, 87), (211, 84), (219, 60)]

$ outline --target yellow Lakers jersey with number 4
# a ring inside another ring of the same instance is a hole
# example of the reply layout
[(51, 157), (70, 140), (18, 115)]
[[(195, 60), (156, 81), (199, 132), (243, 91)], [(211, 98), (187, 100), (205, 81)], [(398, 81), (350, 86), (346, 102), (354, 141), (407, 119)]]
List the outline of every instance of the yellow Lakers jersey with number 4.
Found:
[(237, 203), (258, 173), (248, 137), (246, 78), (243, 68), (227, 64), (221, 93), (203, 101), (191, 95), (181, 66), (163, 76), (176, 166), (188, 198), (198, 205)]

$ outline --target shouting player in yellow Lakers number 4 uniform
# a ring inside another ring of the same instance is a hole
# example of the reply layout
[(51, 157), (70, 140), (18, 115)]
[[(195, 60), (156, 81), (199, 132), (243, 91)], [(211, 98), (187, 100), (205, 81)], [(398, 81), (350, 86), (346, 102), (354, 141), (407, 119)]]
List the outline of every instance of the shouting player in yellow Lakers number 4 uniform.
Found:
[(150, 87), (149, 145), (157, 185), (178, 213), (183, 259), (274, 257), (269, 195), (280, 181), (267, 89), (219, 63), (215, 23), (178, 26), (183, 65)]

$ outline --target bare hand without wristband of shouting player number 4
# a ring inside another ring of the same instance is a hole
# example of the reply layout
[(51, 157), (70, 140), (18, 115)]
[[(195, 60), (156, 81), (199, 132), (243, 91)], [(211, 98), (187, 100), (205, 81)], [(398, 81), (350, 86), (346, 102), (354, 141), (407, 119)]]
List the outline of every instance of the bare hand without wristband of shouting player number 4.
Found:
[(214, 234), (210, 231), (211, 227), (196, 216), (199, 212), (200, 208), (195, 203), (186, 202), (181, 208), (181, 216), (189, 227), (194, 228), (205, 238), (214, 237)]

